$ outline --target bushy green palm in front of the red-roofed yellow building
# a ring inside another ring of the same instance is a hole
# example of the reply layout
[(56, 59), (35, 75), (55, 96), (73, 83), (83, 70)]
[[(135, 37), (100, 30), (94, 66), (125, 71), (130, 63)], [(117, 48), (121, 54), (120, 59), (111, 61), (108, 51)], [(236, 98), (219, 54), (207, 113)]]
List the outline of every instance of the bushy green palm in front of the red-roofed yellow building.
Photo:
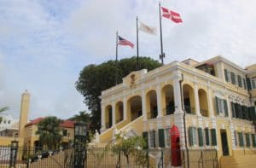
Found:
[(61, 142), (61, 129), (60, 124), (62, 120), (57, 119), (55, 116), (49, 116), (38, 123), (39, 143), (43, 147), (52, 150), (56, 148)]

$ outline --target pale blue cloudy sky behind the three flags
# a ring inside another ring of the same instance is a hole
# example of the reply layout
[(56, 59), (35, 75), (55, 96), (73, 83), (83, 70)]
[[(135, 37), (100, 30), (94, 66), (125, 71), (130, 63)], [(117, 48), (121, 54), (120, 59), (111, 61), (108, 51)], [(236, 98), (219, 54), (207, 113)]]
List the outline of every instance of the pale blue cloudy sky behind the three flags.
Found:
[[(108, 2), (108, 3), (107, 3)], [(165, 62), (223, 55), (241, 67), (256, 63), (253, 0), (161, 0), (183, 18), (163, 18)], [(30, 119), (62, 119), (86, 109), (74, 83), (82, 68), (115, 55), (115, 32), (136, 41), (136, 16), (157, 26), (155, 0), (0, 0), (0, 107), (16, 117), (20, 95), (31, 93)], [(140, 32), (140, 54), (157, 60), (159, 36)], [(136, 49), (119, 47), (119, 58)]]

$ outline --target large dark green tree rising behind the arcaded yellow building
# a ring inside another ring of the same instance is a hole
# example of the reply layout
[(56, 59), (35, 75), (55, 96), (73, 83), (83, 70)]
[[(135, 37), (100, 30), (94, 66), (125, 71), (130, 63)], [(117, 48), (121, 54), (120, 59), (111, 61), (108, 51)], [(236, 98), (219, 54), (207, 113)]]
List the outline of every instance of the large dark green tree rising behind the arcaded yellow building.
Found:
[[(139, 69), (148, 71), (160, 67), (158, 61), (148, 57), (139, 58)], [(88, 65), (79, 74), (76, 89), (84, 96), (84, 103), (91, 112), (91, 127), (99, 130), (101, 128), (101, 100), (99, 96), (102, 90), (107, 90), (116, 82), (121, 83), (122, 78), (132, 71), (137, 70), (137, 57), (125, 58), (120, 61), (107, 61), (99, 65)]]

